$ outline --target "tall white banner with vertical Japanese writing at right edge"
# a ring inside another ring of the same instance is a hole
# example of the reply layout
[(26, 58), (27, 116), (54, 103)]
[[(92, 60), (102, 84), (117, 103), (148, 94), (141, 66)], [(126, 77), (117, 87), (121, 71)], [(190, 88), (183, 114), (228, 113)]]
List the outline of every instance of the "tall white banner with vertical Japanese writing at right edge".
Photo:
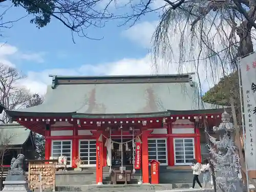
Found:
[(245, 160), (248, 170), (256, 170), (256, 53), (240, 60), (245, 113)]

